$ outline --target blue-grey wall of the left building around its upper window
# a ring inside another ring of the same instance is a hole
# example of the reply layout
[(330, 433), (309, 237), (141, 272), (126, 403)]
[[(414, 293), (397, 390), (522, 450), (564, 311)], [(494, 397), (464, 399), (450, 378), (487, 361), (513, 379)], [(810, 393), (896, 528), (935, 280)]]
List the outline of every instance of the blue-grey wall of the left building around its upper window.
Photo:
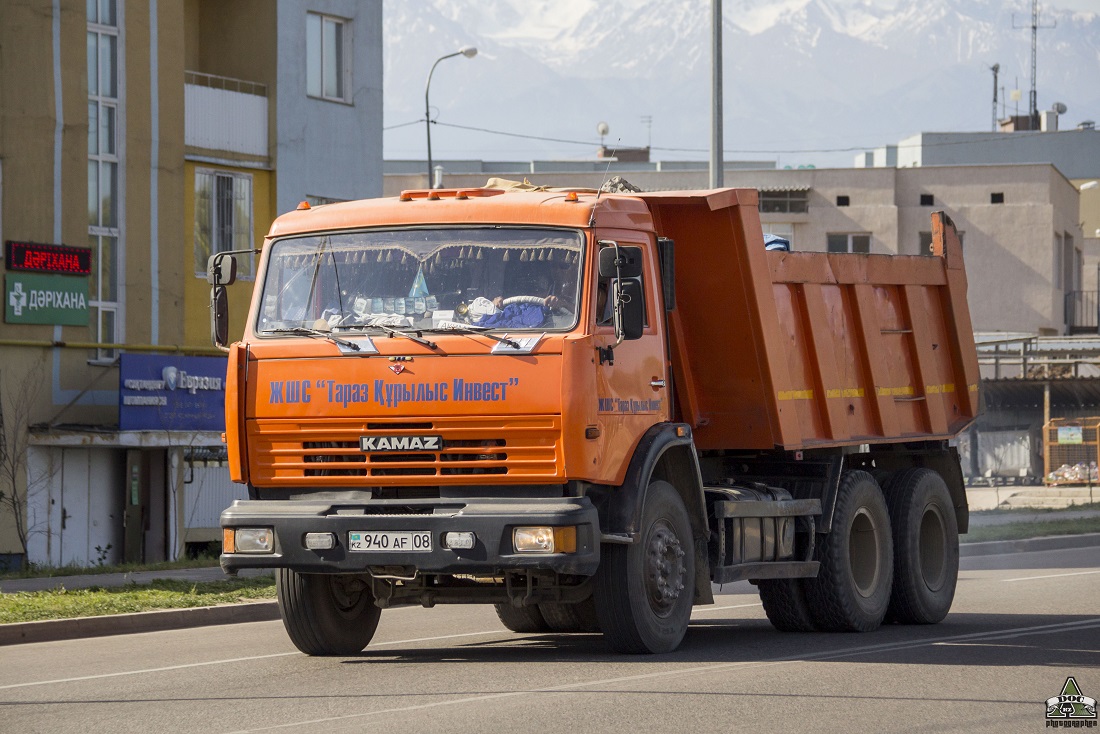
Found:
[[(348, 19), (349, 103), (306, 95), (306, 12)], [(276, 211), (382, 194), (382, 0), (280, 0)]]

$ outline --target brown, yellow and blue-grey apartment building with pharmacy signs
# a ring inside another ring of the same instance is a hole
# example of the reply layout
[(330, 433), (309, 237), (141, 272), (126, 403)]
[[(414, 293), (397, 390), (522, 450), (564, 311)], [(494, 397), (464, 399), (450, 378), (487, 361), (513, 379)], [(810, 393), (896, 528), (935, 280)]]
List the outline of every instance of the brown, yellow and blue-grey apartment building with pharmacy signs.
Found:
[(217, 537), (206, 259), (381, 173), (381, 0), (0, 3), (0, 565)]

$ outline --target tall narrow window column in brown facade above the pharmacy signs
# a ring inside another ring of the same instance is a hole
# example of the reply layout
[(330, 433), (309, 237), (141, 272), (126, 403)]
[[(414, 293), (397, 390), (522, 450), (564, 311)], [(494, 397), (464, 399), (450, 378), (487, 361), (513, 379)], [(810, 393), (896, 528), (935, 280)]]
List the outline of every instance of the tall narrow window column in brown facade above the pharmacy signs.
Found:
[[(119, 341), (119, 17), (116, 0), (87, 0), (88, 307), (95, 341)], [(118, 350), (96, 350), (111, 362)]]

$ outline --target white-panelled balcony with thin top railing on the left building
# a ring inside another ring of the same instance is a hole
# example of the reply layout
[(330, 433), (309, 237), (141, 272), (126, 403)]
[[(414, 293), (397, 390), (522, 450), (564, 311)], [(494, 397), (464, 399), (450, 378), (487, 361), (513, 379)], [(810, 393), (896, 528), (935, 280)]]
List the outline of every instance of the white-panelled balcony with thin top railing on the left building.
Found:
[(266, 85), (184, 72), (184, 142), (188, 147), (266, 158)]

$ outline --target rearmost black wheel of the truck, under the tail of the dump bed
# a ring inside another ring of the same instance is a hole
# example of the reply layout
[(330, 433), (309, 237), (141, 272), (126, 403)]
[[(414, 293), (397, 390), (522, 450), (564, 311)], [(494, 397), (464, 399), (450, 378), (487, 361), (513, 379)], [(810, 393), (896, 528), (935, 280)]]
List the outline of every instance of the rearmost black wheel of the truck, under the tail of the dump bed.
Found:
[(959, 576), (959, 528), (947, 484), (931, 469), (909, 469), (887, 486), (893, 527), (893, 591), (887, 618), (935, 624), (952, 609)]

